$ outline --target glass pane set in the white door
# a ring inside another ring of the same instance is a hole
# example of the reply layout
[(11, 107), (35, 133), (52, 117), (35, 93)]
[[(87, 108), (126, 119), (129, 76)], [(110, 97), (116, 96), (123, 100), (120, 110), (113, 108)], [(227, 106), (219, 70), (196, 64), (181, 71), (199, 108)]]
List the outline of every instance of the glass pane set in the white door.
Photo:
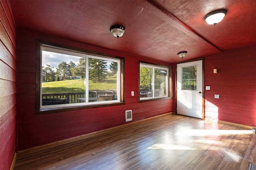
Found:
[(196, 90), (196, 66), (182, 67), (182, 90)]

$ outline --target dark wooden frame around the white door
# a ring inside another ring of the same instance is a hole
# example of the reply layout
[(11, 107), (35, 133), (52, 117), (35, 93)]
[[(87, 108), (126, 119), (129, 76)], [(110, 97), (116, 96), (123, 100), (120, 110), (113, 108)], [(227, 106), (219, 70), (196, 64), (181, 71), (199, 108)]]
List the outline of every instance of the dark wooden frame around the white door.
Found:
[(205, 109), (205, 107), (204, 107), (204, 90), (205, 90), (205, 87), (204, 87), (204, 58), (199, 58), (199, 59), (195, 59), (195, 60), (188, 60), (188, 61), (184, 61), (184, 62), (180, 62), (180, 63), (176, 63), (175, 64), (175, 70), (176, 70), (176, 75), (175, 75), (175, 114), (177, 114), (177, 64), (181, 64), (181, 63), (189, 63), (189, 62), (192, 62), (192, 61), (201, 61), (202, 60), (202, 120), (204, 120), (204, 118), (205, 118), (205, 115), (204, 115), (204, 109)]

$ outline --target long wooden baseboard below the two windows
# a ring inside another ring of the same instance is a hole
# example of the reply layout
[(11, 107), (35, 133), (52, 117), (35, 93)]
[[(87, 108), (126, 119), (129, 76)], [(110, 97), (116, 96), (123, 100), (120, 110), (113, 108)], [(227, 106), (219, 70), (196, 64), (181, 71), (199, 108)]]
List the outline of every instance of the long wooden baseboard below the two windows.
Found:
[(137, 124), (140, 124), (140, 123), (144, 123), (146, 121), (150, 121), (150, 120), (153, 120), (153, 119), (158, 119), (160, 117), (165, 117), (165, 116), (172, 115), (172, 114), (173, 114), (173, 112), (170, 112), (170, 113), (166, 113), (166, 114), (163, 114), (163, 115), (158, 115), (158, 116), (155, 116), (155, 117), (150, 117), (150, 118), (147, 118), (147, 119), (143, 119), (143, 120), (139, 120), (139, 121), (134, 121), (134, 122), (127, 123), (127, 124), (124, 124), (124, 125), (120, 125), (120, 126), (111, 127), (111, 128), (108, 128), (108, 129), (104, 129), (104, 130), (88, 133), (88, 134), (85, 134), (85, 135), (80, 135), (80, 136), (77, 136), (77, 137), (72, 137), (72, 138), (61, 140), (61, 141), (57, 141), (57, 142), (53, 142), (53, 143), (48, 143), (48, 144), (45, 144), (45, 145), (40, 145), (38, 147), (33, 147), (33, 148), (30, 148), (30, 149), (20, 150), (20, 151), (18, 151), (18, 154), (24, 153), (24, 152), (33, 153), (33, 152), (38, 152), (40, 150), (45, 150), (45, 149), (49, 149), (49, 148), (52, 148), (52, 147), (57, 147), (57, 146), (60, 146), (60, 145), (65, 145), (67, 143), (72, 143), (74, 141), (79, 141), (79, 140), (86, 139), (86, 138), (89, 138), (89, 137), (94, 137), (94, 136), (97, 136), (97, 135), (102, 135), (104, 133), (109, 133), (111, 131), (122, 129), (124, 127), (132, 126), (132, 125), (137, 125)]

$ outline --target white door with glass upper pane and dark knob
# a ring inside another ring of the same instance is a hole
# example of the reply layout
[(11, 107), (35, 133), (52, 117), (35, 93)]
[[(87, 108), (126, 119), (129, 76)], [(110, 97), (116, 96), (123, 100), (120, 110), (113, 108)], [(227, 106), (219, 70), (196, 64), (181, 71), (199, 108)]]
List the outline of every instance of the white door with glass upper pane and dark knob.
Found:
[(177, 114), (203, 118), (202, 60), (177, 64)]

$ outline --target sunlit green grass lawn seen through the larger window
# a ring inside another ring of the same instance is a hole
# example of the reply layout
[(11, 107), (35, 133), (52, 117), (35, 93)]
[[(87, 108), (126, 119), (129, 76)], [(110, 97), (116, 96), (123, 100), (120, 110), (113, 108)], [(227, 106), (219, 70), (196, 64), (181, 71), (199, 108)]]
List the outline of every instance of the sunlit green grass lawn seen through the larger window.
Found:
[[(109, 90), (116, 88), (116, 76), (107, 77), (103, 82), (89, 80), (89, 90)], [(84, 92), (84, 79), (42, 83), (42, 93)]]

